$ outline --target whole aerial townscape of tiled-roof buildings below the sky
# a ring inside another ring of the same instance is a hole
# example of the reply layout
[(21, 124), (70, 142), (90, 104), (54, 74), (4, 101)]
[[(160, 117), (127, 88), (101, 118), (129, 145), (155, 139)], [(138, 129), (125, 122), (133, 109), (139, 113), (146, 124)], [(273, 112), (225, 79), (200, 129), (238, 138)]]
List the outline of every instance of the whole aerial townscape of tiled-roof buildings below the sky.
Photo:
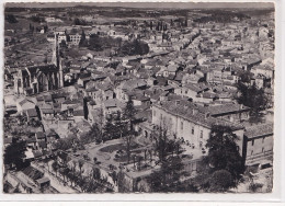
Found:
[(273, 5), (24, 4), (4, 8), (4, 193), (272, 192)]

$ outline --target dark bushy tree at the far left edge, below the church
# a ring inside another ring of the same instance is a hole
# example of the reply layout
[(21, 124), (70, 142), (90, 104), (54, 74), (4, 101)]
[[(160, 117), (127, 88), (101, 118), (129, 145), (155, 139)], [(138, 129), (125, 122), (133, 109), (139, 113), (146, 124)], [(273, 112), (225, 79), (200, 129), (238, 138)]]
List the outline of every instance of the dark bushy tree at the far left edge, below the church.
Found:
[(4, 149), (4, 164), (21, 170), (25, 167), (25, 151), (26, 147), (24, 141), (12, 142)]

